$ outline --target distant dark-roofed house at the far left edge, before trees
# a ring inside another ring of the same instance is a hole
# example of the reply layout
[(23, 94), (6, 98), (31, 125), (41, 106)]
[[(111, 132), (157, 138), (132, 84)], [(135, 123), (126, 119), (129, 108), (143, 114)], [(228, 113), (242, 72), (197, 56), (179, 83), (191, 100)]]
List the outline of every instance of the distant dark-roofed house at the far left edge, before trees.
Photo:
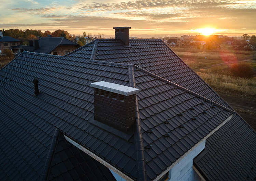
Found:
[[(1, 31), (2, 33), (2, 31)], [(13, 53), (17, 53), (22, 49), (23, 45), (20, 45), (20, 40), (12, 38), (10, 36), (0, 35), (0, 50), (3, 52), (4, 49), (12, 50)]]

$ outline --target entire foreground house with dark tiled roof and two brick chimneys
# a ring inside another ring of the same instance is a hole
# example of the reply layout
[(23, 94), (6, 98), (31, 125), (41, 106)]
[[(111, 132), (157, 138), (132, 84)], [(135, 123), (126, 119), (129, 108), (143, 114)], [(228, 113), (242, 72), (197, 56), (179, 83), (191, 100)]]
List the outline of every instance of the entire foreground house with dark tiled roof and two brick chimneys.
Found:
[(0, 70), (0, 180), (253, 180), (256, 132), (161, 39), (114, 29)]

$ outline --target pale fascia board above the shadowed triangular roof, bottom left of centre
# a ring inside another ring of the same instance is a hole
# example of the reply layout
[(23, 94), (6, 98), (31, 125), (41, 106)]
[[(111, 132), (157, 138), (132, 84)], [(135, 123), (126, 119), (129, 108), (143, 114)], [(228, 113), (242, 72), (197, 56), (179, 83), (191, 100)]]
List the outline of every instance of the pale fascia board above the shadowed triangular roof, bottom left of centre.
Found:
[(113, 172), (115, 172), (117, 175), (119, 175), (120, 177), (122, 177), (123, 179), (125, 179), (126, 181), (133, 181), (130, 177), (128, 177), (127, 175), (125, 175), (123, 172), (121, 172), (120, 170), (116, 169), (114, 166), (112, 166), (111, 164), (109, 164), (108, 162), (104, 161), (103, 159), (99, 158), (96, 154), (94, 154), (93, 152), (87, 150), (86, 148), (84, 148), (83, 146), (81, 146), (80, 144), (74, 142), (72, 139), (70, 139), (69, 137), (67, 137), (66, 135), (64, 135), (64, 137), (66, 138), (66, 140), (71, 143), (72, 145), (76, 146), (77, 148), (79, 148), (80, 150), (82, 150), (83, 152), (85, 152), (86, 154), (90, 155), (90, 157), (94, 158), (95, 160), (97, 160), (98, 162), (100, 162), (102, 165), (108, 167), (109, 169), (111, 169)]

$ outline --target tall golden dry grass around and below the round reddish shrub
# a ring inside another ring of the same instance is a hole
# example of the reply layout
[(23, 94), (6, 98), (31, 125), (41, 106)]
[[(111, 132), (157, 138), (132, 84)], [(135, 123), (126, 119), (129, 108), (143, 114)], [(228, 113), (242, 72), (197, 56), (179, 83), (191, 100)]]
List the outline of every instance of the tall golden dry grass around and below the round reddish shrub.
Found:
[(215, 91), (256, 98), (256, 77), (252, 79), (232, 77), (225, 66), (213, 67), (207, 70), (200, 69), (197, 74)]

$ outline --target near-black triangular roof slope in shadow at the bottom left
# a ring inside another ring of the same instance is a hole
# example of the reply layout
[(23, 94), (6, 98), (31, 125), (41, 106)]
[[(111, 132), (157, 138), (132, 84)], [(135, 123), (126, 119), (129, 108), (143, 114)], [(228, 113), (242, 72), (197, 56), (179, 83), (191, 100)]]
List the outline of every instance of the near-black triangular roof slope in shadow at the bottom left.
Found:
[(59, 136), (55, 151), (49, 181), (115, 180), (107, 167), (66, 141), (63, 134)]

